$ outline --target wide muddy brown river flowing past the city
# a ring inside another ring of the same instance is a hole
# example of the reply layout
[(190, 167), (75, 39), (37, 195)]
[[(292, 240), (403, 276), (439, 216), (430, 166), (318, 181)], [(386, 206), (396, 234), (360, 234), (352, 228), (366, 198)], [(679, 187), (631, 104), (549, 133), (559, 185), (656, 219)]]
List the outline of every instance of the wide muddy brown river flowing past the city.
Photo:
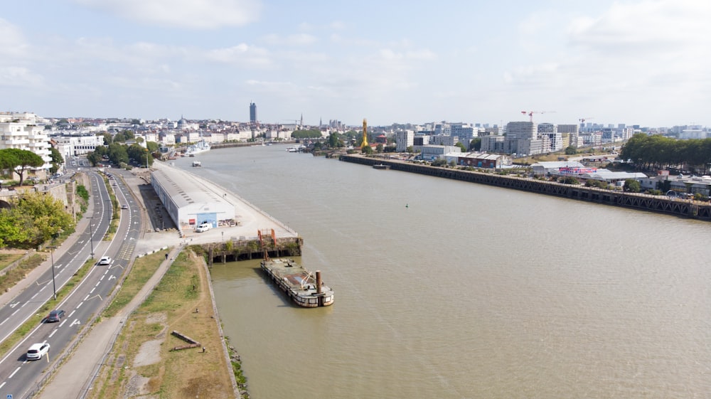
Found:
[(284, 149), (176, 160), (336, 292), (300, 309), (258, 262), (213, 267), (252, 398), (709, 397), (709, 223)]

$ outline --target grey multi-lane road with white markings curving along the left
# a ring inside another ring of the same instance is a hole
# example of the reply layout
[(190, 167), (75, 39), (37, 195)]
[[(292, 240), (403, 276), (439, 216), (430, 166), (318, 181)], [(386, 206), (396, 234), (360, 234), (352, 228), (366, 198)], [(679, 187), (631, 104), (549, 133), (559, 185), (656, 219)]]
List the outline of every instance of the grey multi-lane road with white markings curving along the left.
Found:
[[(0, 309), (0, 341), (10, 336), (18, 326), (36, 318), (37, 325), (9, 353), (0, 358), (0, 398), (27, 398), (41, 385), (55, 359), (82, 331), (82, 327), (102, 309), (107, 297), (122, 277), (129, 265), (141, 232), (139, 206), (119, 179), (109, 179), (107, 186), (103, 177), (95, 171), (87, 171), (91, 180), (92, 205), (85, 217), (90, 218), (84, 231), (77, 231), (77, 240), (68, 248), (57, 248), (52, 254), (53, 267), (30, 284), (9, 304)], [(119, 228), (113, 240), (104, 240), (113, 210), (109, 199), (113, 190), (121, 209)], [(93, 253), (92, 253), (93, 252)], [(94, 264), (82, 281), (73, 287), (71, 293), (54, 306), (65, 311), (58, 322), (47, 323), (46, 314), (41, 312), (44, 304), (53, 298), (55, 288), (59, 290), (84, 264), (94, 258), (109, 256), (109, 265)], [(26, 351), (36, 343), (50, 344), (48, 356), (38, 361), (28, 361)]]

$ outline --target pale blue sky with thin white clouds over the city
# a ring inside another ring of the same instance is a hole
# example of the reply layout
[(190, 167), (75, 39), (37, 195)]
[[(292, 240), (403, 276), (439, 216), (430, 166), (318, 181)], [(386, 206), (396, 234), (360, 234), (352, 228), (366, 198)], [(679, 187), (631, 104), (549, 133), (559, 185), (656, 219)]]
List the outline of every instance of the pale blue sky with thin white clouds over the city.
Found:
[(707, 0), (7, 1), (0, 112), (711, 126), (709, 21)]

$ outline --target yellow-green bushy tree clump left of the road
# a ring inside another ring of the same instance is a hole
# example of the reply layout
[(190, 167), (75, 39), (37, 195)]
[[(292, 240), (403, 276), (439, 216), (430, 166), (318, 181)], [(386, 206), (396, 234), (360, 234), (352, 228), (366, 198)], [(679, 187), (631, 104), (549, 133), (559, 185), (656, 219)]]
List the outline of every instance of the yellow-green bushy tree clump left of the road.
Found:
[(33, 248), (73, 231), (75, 222), (64, 204), (43, 193), (26, 193), (9, 199), (11, 208), (0, 209), (0, 246)]

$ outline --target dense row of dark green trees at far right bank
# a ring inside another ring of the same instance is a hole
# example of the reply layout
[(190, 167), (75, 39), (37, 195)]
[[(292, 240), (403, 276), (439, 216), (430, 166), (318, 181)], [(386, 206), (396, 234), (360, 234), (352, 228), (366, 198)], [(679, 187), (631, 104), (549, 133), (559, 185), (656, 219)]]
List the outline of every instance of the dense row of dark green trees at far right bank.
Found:
[(688, 168), (707, 173), (711, 166), (711, 139), (678, 140), (638, 133), (624, 144), (620, 158), (644, 169)]

